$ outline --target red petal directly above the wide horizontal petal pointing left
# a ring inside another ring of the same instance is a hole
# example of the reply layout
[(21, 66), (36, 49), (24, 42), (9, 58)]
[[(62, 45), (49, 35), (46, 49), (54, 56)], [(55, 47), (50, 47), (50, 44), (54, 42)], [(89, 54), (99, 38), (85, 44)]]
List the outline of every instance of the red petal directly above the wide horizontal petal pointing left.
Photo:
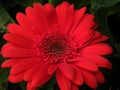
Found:
[(33, 41), (30, 40), (29, 38), (26, 38), (20, 34), (5, 34), (4, 39), (7, 41), (11, 42), (12, 44), (18, 45), (20, 47), (25, 47), (25, 48), (33, 48)]

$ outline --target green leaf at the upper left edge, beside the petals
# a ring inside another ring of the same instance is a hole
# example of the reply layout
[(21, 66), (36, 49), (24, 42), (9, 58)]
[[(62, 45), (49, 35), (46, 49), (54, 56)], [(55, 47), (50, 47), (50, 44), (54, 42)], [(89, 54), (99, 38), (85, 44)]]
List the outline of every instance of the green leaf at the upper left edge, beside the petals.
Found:
[(6, 25), (10, 22), (14, 22), (14, 20), (9, 16), (0, 2), (0, 33), (7, 32)]

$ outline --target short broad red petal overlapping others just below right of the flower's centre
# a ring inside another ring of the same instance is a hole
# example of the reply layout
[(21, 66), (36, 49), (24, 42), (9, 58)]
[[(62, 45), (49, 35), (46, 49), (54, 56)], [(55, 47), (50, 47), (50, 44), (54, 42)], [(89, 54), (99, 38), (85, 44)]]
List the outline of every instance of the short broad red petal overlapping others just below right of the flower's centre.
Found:
[(70, 80), (73, 79), (74, 77), (74, 70), (73, 68), (67, 64), (67, 63), (60, 63), (58, 64), (58, 67), (60, 68), (60, 70), (62, 71), (62, 73)]

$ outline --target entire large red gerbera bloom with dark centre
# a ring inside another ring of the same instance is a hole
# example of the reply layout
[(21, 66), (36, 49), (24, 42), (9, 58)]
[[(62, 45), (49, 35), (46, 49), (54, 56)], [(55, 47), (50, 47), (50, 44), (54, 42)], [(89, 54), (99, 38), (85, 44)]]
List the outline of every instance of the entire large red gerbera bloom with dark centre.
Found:
[(27, 81), (27, 90), (36, 90), (56, 75), (60, 90), (78, 90), (86, 83), (91, 88), (104, 77), (99, 67), (112, 67), (103, 57), (112, 52), (102, 43), (107, 37), (95, 31), (94, 15), (85, 14), (86, 7), (74, 10), (63, 2), (54, 8), (51, 4), (34, 3), (26, 14), (16, 15), (18, 24), (9, 24), (8, 41), (2, 48), (7, 57), (2, 67), (11, 67), (9, 81)]

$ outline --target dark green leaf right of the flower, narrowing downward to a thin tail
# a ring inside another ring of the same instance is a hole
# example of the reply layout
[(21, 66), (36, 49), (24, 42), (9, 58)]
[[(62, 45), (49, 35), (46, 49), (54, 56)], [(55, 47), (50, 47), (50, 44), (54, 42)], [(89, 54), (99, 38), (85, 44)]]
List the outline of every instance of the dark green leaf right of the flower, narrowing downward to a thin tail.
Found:
[(108, 16), (108, 9), (100, 8), (95, 13), (95, 17), (96, 17), (95, 20), (99, 25), (98, 30), (102, 32), (102, 34), (107, 35), (109, 37), (109, 41), (111, 44), (115, 44), (116, 42), (108, 27), (107, 16)]

